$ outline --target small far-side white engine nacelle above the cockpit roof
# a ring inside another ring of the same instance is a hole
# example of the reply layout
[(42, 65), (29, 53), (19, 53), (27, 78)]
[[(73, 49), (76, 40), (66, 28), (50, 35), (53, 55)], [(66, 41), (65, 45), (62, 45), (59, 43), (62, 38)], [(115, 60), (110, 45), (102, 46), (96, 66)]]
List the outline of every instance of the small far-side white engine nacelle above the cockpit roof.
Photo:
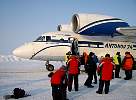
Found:
[(57, 27), (58, 31), (63, 31), (63, 32), (73, 32), (72, 30), (72, 24), (63, 24), (63, 25), (58, 25)]

